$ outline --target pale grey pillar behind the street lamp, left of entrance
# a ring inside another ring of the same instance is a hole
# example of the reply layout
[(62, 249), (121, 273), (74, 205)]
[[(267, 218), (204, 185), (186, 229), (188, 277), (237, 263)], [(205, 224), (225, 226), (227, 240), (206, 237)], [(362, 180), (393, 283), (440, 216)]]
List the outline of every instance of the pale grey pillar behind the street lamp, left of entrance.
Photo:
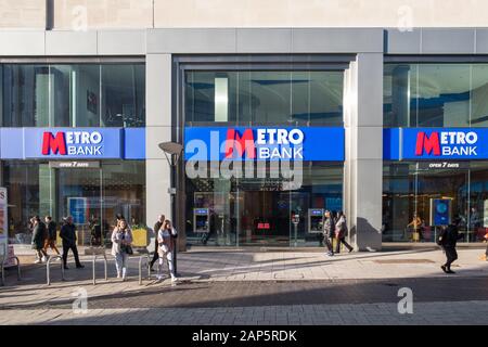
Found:
[[(146, 128), (145, 128), (145, 180), (146, 223), (150, 228), (157, 216), (171, 219), (170, 168), (160, 142), (171, 141), (171, 54), (147, 54), (145, 64)], [(177, 226), (177, 221), (174, 221)], [(179, 231), (179, 249), (187, 244), (184, 230)]]

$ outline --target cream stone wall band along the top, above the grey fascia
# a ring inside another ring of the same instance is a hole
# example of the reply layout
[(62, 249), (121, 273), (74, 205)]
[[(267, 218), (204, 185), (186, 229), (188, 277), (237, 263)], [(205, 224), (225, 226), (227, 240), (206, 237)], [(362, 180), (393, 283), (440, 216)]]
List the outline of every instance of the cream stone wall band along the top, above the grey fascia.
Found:
[(0, 27), (483, 27), (484, 0), (1, 0)]

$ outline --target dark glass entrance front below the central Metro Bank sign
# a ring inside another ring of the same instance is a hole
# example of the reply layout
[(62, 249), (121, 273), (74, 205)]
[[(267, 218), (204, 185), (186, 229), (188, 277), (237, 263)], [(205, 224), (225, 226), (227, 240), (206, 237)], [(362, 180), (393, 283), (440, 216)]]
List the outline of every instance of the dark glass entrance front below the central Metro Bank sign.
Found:
[[(185, 180), (191, 243), (317, 246), (322, 240), (308, 231), (308, 209), (343, 209), (342, 163), (305, 162), (301, 180), (293, 188), (287, 184), (293, 180), (281, 177), (271, 165), (262, 168), (264, 175), (231, 179), (211, 178), (209, 166), (207, 177)], [(254, 169), (257, 174), (256, 163)], [(209, 209), (209, 233), (194, 232), (194, 208)], [(296, 234), (292, 213), (300, 216)]]

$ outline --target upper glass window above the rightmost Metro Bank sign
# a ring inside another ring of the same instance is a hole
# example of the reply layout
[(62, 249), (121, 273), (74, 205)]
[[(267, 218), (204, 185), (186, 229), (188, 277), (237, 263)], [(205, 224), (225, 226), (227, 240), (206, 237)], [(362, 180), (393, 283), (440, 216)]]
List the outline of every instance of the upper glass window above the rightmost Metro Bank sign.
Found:
[(486, 127), (486, 64), (388, 63), (385, 127)]

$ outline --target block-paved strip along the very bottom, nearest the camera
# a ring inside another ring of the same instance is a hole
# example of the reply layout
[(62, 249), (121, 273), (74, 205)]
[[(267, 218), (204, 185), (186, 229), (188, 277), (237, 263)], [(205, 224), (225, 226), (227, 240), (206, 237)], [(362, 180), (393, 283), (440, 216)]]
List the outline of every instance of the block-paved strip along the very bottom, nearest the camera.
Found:
[(413, 313), (400, 314), (396, 304), (294, 305), (231, 308), (12, 310), (0, 324), (175, 324), (175, 325), (286, 325), (286, 324), (486, 324), (488, 301), (421, 303)]

